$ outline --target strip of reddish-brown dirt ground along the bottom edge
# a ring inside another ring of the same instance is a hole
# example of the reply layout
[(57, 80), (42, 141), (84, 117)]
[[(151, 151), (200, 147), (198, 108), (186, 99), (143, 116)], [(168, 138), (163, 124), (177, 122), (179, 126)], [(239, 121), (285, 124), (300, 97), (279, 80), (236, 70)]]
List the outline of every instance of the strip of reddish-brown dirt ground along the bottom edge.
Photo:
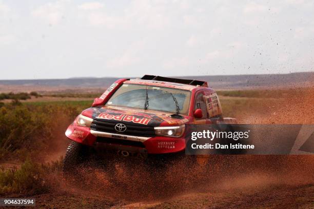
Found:
[(34, 196), (44, 208), (313, 208), (314, 186), (271, 186), (248, 191), (191, 193), (169, 200), (114, 201), (99, 195), (69, 193)]

